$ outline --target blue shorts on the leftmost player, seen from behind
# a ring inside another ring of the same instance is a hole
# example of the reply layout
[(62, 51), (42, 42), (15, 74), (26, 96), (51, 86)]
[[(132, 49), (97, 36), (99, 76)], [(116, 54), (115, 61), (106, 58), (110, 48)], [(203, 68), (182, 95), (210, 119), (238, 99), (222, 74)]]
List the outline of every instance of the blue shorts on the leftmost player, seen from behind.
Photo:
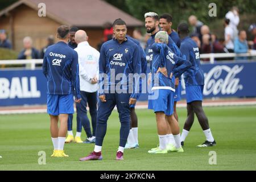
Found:
[(47, 95), (47, 113), (51, 115), (73, 114), (73, 94), (68, 95)]

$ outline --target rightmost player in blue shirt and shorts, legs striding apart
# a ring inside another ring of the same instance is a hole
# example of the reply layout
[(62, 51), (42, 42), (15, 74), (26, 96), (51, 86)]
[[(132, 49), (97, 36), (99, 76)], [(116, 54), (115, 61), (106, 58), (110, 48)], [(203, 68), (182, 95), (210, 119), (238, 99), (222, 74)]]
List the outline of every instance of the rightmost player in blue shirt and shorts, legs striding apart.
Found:
[(181, 144), (184, 144), (184, 140), (193, 125), (194, 115), (196, 113), (196, 117), (207, 139), (198, 147), (215, 146), (216, 142), (213, 139), (207, 116), (205, 115), (202, 107), (204, 72), (200, 67), (199, 48), (197, 47), (196, 42), (188, 37), (189, 29), (187, 23), (179, 24), (178, 33), (181, 39), (180, 51), (183, 53), (183, 58), (190, 61), (192, 64), (192, 67), (184, 72), (188, 117), (185, 121), (185, 125), (181, 134)]

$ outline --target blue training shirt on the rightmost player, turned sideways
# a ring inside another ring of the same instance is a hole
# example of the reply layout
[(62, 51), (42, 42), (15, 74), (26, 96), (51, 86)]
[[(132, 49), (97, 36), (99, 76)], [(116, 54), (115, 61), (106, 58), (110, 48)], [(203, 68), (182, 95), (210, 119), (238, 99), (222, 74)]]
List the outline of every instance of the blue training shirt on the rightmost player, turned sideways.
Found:
[(200, 54), (196, 42), (187, 36), (181, 40), (180, 51), (183, 58), (192, 64), (184, 72), (185, 86), (204, 85), (204, 72), (200, 66)]

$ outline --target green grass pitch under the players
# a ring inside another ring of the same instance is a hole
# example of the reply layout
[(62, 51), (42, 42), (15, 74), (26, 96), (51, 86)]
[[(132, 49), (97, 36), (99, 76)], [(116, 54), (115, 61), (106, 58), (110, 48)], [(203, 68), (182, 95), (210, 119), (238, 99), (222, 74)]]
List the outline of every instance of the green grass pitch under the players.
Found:
[[(93, 151), (94, 144), (65, 144), (69, 158), (51, 158), (52, 142), (47, 114), (0, 115), (0, 170), (255, 170), (256, 169), (256, 106), (205, 107), (210, 129), (217, 146), (197, 148), (204, 142), (204, 133), (195, 119), (185, 140), (184, 153), (148, 154), (156, 147), (155, 114), (137, 110), (139, 148), (125, 150), (123, 161), (116, 161), (119, 143), (117, 111), (108, 121), (102, 147), (102, 161), (80, 162), (79, 158)], [(186, 109), (178, 109), (180, 130)], [(76, 115), (74, 115), (76, 118)], [(76, 120), (73, 121), (73, 133)], [(82, 139), (85, 133), (82, 131)], [(39, 151), (46, 152), (46, 164), (39, 165)], [(209, 152), (217, 154), (217, 164), (209, 164)]]

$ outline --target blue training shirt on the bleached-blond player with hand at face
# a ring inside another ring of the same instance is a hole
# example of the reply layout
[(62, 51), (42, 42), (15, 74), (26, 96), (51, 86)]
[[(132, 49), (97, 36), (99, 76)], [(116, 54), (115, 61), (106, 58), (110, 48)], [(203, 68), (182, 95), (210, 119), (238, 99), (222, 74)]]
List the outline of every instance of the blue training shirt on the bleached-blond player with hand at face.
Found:
[[(175, 92), (174, 81), (170, 77), (171, 73), (174, 73), (174, 77), (179, 77), (186, 69), (191, 67), (191, 63), (182, 57), (176, 56), (172, 49), (164, 43), (152, 44), (152, 51), (154, 53), (152, 61), (152, 90), (169, 89)], [(160, 72), (156, 73), (159, 67), (167, 69), (168, 77)], [(155, 79), (158, 79), (158, 81)]]

